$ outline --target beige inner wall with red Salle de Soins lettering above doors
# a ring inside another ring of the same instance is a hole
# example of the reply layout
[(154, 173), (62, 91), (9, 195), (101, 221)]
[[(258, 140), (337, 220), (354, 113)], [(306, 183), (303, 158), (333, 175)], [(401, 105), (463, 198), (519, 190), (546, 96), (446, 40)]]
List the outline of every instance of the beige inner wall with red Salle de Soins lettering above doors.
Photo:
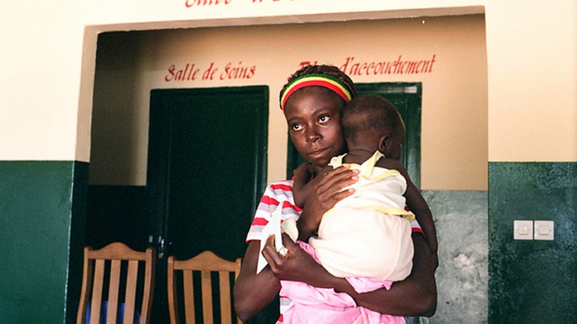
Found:
[[(422, 82), (421, 187), (487, 189), (482, 15), (105, 33), (97, 58), (91, 184), (146, 185), (151, 89), (258, 84), (271, 88), (268, 180), (284, 179), (286, 121), (278, 91), (309, 61), (341, 66), (354, 82)], [(422, 73), (354, 73), (355, 64), (398, 60), (431, 66)], [(223, 77), (227, 64), (254, 72)], [(203, 78), (209, 67), (214, 79)]]

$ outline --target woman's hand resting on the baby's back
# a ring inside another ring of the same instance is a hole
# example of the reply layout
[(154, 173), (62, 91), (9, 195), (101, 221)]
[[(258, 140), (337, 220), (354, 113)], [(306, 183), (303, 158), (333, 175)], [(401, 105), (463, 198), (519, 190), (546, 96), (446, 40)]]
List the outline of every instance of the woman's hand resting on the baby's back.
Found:
[(352, 195), (354, 190), (343, 190), (359, 181), (359, 170), (351, 170), (349, 166), (339, 166), (337, 169), (326, 167), (311, 181), (313, 193), (308, 195), (301, 216), (297, 221), (299, 240), (308, 241), (317, 232), (325, 212), (335, 203)]

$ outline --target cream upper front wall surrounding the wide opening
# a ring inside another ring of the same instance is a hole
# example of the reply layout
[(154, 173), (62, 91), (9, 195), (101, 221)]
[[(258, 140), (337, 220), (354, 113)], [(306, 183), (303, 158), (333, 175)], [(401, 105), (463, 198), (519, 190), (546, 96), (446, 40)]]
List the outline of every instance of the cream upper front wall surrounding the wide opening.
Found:
[[(500, 0), (212, 3), (187, 8), (186, 0), (1, 1), (0, 160), (89, 160), (93, 58), (100, 29), (346, 20), (354, 12), (371, 12), (375, 18), (436, 16), (484, 7), (488, 160), (577, 161), (574, 0), (517, 5)], [(84, 43), (87, 25), (107, 26), (87, 29)]]

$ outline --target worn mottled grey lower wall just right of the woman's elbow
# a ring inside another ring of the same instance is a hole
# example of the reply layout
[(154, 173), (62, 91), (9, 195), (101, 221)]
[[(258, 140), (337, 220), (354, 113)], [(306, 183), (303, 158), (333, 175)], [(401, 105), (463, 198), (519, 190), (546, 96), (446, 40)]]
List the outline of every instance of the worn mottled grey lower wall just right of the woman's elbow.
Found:
[(487, 192), (427, 190), (423, 196), (435, 219), (439, 267), (435, 273), (437, 312), (420, 320), (433, 324), (487, 323)]

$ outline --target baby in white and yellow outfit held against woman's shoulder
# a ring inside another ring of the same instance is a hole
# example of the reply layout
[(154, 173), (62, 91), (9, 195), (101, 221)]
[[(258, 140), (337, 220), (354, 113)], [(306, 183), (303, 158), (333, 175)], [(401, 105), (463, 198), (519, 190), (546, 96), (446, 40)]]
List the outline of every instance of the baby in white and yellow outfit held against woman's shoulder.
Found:
[[(344, 108), (341, 123), (348, 153), (332, 158), (329, 167), (349, 164), (361, 171), (359, 182), (350, 186), (353, 195), (324, 214), (318, 237), (309, 243), (325, 269), (337, 277), (405, 279), (412, 267), (414, 216), (433, 256), (437, 238), (431, 210), (399, 161), (403, 119), (383, 97), (359, 95)], [(293, 194), (301, 207), (312, 192), (310, 170), (304, 164), (295, 171)]]

